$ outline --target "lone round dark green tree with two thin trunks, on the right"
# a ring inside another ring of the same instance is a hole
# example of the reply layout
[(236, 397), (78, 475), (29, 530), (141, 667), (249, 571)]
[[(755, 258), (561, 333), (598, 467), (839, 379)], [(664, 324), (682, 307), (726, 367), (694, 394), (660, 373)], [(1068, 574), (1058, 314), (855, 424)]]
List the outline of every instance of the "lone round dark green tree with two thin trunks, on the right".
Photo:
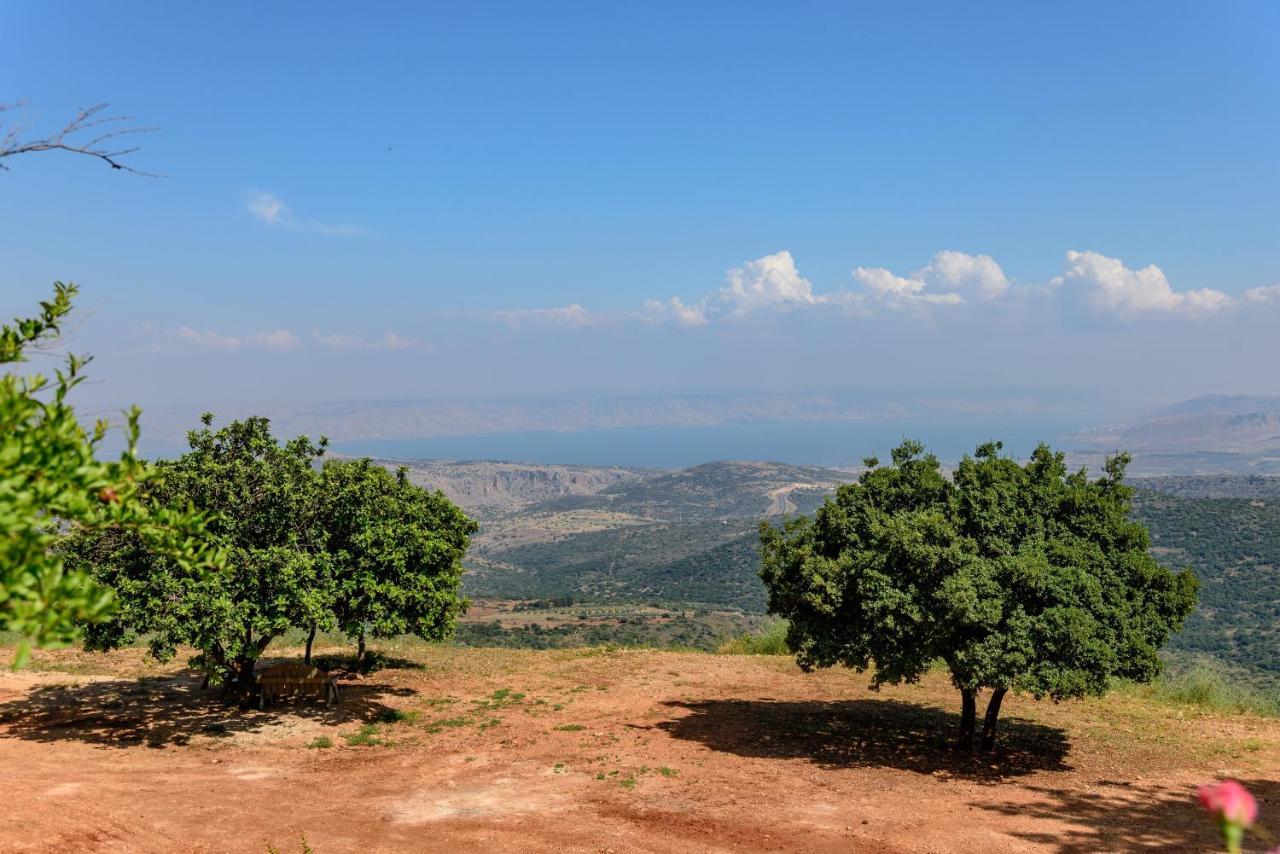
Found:
[(980, 446), (948, 480), (904, 442), (813, 519), (760, 528), (769, 609), (790, 621), (803, 668), (874, 668), (878, 688), (941, 659), (961, 694), (961, 745), (991, 690), (984, 749), (1010, 689), (1062, 700), (1155, 677), (1197, 589), (1129, 517), (1128, 456), (1091, 480), (1046, 446), (1025, 465), (1000, 451)]

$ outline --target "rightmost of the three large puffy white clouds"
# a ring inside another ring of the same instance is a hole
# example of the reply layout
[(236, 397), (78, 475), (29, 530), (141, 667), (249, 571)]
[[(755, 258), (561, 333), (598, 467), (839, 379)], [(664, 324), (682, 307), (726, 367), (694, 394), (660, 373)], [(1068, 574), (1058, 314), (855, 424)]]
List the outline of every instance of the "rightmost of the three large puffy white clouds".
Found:
[(1066, 269), (1053, 284), (1085, 288), (1084, 296), (1096, 310), (1124, 318), (1149, 312), (1203, 316), (1236, 302), (1213, 288), (1174, 291), (1155, 264), (1134, 270), (1119, 259), (1074, 250), (1066, 254)]

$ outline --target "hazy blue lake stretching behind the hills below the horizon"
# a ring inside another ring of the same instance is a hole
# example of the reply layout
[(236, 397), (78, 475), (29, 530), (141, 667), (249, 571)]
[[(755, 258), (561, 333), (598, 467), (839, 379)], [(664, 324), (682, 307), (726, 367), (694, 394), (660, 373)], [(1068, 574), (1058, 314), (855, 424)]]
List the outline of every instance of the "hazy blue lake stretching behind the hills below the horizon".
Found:
[(335, 442), (342, 453), (399, 460), (509, 460), (580, 465), (684, 469), (714, 460), (769, 460), (854, 466), (863, 457), (888, 457), (904, 438), (920, 439), (943, 461), (1001, 439), (1015, 455), (1039, 442), (1062, 446), (1080, 429), (1069, 416), (946, 416), (872, 421), (753, 421), (698, 428), (617, 428), (568, 433), (488, 433), (431, 439)]

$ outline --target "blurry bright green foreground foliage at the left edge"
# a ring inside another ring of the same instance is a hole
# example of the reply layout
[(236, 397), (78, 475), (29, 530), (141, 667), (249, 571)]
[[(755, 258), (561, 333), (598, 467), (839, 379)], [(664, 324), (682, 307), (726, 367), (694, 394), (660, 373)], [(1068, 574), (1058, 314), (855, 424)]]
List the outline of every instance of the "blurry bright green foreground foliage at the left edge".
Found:
[[(59, 282), (38, 316), (0, 326), (0, 364), (52, 344), (76, 293)], [(141, 499), (157, 480), (137, 456), (137, 407), (127, 417), (127, 449), (118, 460), (97, 458), (109, 425), (86, 430), (68, 399), (88, 361), (68, 356), (52, 382), (12, 370), (0, 378), (0, 629), (23, 635), (15, 667), (32, 645), (65, 645), (115, 607), (109, 589), (55, 549), (65, 531), (127, 531), (192, 575), (220, 560), (201, 540), (198, 513)]]

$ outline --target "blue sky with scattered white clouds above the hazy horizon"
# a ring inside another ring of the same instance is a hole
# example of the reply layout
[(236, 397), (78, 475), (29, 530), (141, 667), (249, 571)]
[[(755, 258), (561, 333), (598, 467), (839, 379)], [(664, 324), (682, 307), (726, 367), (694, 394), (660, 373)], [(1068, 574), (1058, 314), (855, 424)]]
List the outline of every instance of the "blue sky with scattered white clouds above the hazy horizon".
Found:
[[(104, 401), (1280, 393), (1280, 6), (0, 10), (0, 310)], [(1069, 256), (1073, 252), (1075, 255)], [(672, 302), (672, 300), (678, 302)]]

